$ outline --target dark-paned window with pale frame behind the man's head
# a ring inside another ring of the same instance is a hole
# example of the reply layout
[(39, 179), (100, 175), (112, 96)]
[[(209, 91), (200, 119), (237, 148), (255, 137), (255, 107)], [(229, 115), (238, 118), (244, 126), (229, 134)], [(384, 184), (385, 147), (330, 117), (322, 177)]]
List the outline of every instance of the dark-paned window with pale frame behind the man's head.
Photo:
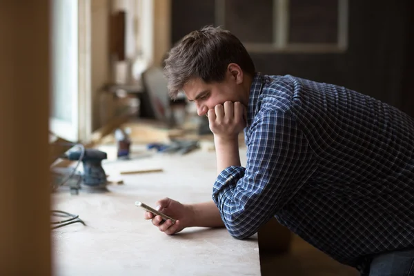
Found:
[(215, 0), (215, 24), (250, 52), (343, 52), (348, 0)]

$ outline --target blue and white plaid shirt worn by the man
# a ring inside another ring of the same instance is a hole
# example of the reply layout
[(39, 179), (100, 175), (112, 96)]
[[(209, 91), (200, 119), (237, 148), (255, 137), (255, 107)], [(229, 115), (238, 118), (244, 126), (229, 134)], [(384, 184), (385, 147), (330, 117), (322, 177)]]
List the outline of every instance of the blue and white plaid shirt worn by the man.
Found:
[(213, 201), (231, 235), (271, 217), (338, 262), (414, 248), (414, 120), (372, 97), (257, 73), (246, 168), (217, 177)]

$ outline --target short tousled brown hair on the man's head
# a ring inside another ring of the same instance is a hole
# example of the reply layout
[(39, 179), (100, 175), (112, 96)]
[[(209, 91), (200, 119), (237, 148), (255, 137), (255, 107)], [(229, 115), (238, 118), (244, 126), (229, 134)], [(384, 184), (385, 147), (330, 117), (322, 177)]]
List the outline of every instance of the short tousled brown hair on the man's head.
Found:
[(252, 77), (255, 75), (255, 65), (246, 48), (228, 30), (206, 26), (190, 32), (170, 50), (164, 61), (170, 97), (177, 97), (185, 83), (195, 77), (206, 83), (223, 81), (232, 62)]

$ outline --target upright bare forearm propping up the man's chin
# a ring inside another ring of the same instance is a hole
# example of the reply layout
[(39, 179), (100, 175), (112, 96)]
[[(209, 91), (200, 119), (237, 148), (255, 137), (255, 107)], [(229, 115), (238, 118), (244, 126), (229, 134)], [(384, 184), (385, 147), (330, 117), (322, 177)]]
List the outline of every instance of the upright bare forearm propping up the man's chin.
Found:
[(230, 166), (241, 166), (237, 136), (234, 139), (221, 139), (215, 136), (214, 142), (217, 158), (217, 175)]

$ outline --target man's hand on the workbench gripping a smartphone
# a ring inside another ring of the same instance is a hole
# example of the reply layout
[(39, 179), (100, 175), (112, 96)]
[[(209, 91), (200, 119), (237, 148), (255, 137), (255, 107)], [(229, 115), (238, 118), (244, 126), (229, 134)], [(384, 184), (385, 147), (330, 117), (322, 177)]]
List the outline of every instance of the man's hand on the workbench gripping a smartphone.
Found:
[(175, 219), (175, 223), (171, 219), (163, 219), (161, 215), (153, 215), (148, 211), (144, 213), (144, 219), (151, 219), (152, 224), (167, 235), (173, 235), (190, 226), (194, 217), (190, 206), (168, 197), (157, 201), (156, 206), (157, 211)]

